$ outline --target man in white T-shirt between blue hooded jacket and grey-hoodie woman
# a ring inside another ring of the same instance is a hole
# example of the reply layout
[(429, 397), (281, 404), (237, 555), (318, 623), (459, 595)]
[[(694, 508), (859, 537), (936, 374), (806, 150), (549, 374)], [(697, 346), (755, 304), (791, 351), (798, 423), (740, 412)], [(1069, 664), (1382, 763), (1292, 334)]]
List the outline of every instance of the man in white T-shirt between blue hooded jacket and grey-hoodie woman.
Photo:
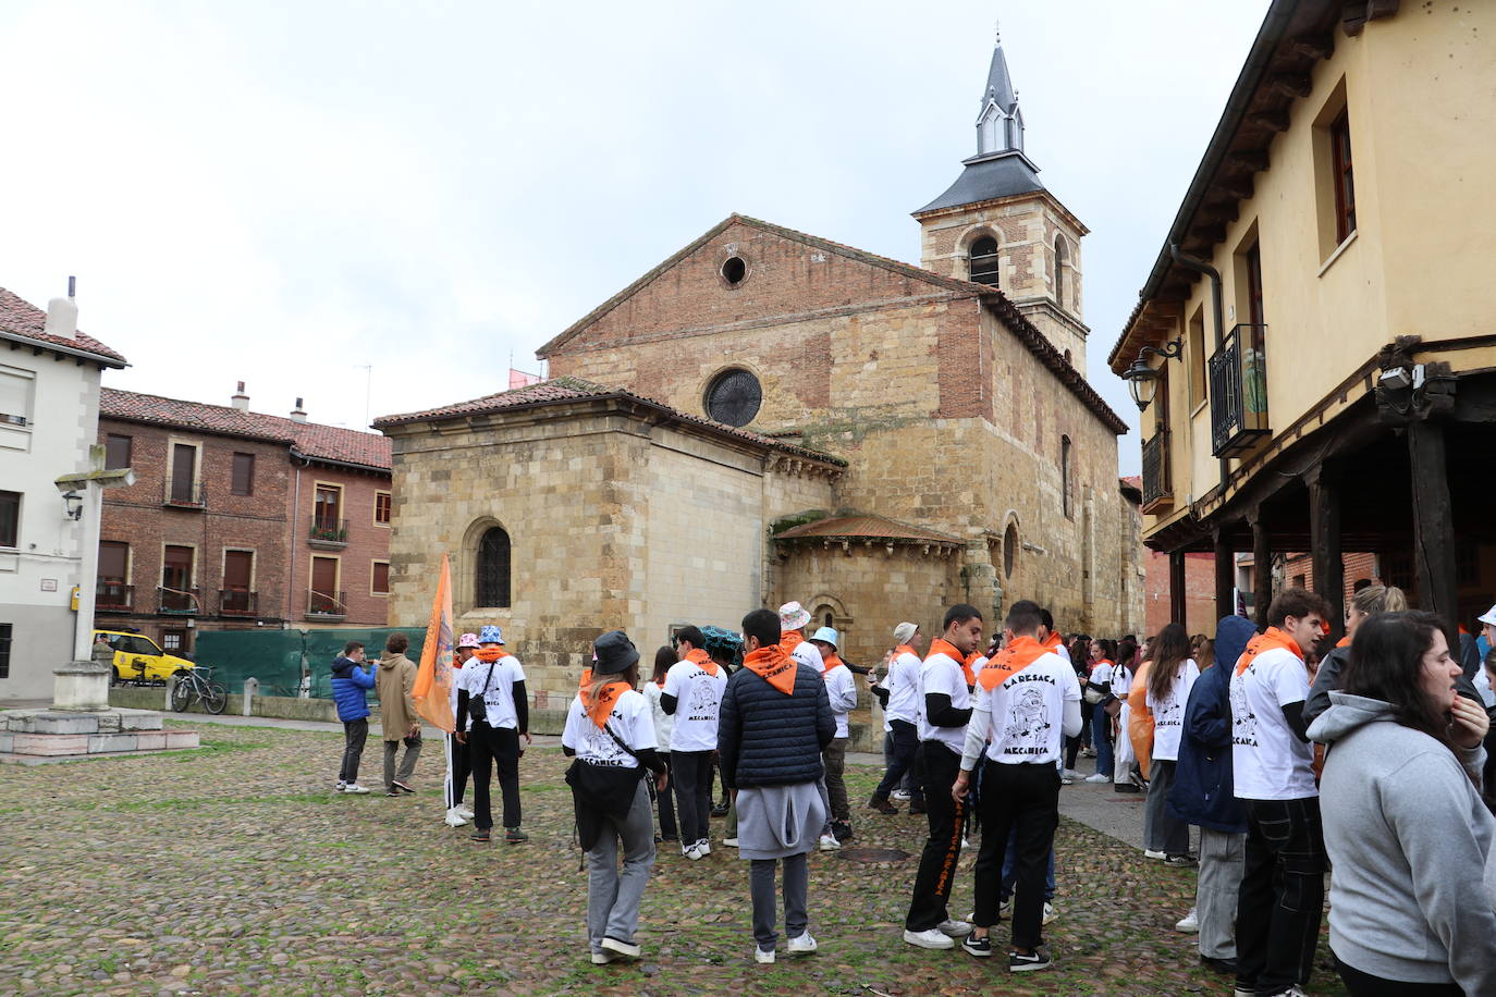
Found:
[(1231, 677), (1231, 770), (1246, 804), (1246, 868), (1236, 909), (1237, 997), (1290, 997), (1309, 981), (1324, 906), (1324, 831), (1303, 716), (1305, 653), (1325, 634), (1328, 604), (1284, 590), (1267, 632)]

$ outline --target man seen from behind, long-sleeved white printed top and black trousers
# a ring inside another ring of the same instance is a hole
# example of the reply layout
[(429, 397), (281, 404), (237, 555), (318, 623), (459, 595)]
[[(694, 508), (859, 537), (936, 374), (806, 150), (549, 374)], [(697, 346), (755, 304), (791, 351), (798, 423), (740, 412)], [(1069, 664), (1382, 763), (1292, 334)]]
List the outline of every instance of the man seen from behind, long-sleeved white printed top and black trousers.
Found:
[[(975, 867), (975, 924), (963, 948), (992, 955), (998, 921), (1002, 856), (1016, 836), (1017, 885), (1013, 898), (1013, 951), (1008, 969), (1047, 969), (1043, 945), (1044, 879), (1059, 827), (1059, 762), (1067, 737), (1080, 731), (1080, 682), (1076, 670), (1038, 637), (1041, 610), (1022, 599), (1008, 610), (1005, 646), (977, 676), (975, 706), (951, 798), (960, 803), (977, 759), (981, 774), (981, 849)], [(990, 738), (990, 743), (989, 743)]]

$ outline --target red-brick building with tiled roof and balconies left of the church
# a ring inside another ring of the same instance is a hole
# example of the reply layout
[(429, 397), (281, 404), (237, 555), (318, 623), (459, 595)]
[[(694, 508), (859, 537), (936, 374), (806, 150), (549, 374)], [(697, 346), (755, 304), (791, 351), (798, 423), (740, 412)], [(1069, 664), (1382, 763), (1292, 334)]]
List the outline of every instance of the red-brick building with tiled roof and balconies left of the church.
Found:
[(99, 442), (136, 481), (105, 501), (96, 626), (178, 652), (200, 629), (384, 625), (389, 441), (248, 402), (103, 389)]

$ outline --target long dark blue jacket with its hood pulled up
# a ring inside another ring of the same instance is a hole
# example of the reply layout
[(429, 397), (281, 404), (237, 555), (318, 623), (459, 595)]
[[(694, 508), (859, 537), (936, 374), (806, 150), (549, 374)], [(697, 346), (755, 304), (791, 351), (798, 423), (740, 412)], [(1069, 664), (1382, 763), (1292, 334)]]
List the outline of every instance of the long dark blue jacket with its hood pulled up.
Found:
[(1168, 816), (1227, 834), (1246, 834), (1246, 807), (1231, 782), (1231, 677), (1257, 628), (1228, 616), (1216, 629), (1216, 664), (1200, 673), (1185, 706)]

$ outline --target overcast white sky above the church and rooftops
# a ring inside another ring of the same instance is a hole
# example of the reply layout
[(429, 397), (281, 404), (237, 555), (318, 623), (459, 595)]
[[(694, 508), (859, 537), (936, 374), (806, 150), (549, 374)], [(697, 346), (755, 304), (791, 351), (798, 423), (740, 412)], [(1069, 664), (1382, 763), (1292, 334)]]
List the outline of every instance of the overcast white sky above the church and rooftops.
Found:
[(358, 427), (476, 398), (733, 211), (919, 263), (1001, 15), (1135, 426), (1106, 357), (1266, 7), (7, 0), (0, 287), (76, 274), (114, 387)]

